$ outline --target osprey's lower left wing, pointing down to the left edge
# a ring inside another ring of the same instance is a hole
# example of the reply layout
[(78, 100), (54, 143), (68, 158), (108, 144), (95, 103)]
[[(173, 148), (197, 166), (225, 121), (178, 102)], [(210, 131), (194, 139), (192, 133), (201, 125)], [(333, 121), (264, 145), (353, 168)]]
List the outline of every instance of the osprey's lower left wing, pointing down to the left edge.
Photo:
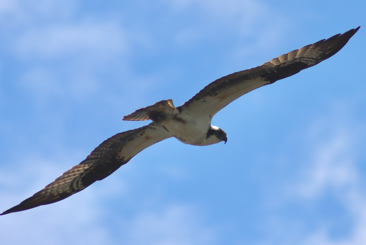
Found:
[(0, 215), (65, 199), (95, 181), (109, 176), (143, 149), (169, 137), (172, 136), (154, 123), (117, 133), (95, 148), (79, 165), (72, 167), (41, 191)]

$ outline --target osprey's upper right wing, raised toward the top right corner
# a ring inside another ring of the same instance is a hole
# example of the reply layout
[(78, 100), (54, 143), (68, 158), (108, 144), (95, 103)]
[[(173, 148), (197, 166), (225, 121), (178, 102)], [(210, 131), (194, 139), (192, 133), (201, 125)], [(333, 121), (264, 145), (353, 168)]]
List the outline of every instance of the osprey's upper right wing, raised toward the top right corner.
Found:
[(333, 56), (347, 44), (359, 28), (283, 54), (261, 66), (217, 79), (177, 109), (189, 114), (203, 114), (212, 118), (240, 96), (256, 88), (292, 76)]

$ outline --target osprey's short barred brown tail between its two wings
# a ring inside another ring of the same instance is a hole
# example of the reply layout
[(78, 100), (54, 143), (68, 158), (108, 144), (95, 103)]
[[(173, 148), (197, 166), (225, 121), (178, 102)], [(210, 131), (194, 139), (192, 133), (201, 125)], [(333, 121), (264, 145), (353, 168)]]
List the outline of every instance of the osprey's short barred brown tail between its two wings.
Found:
[(125, 121), (144, 121), (153, 120), (160, 121), (164, 120), (167, 115), (173, 115), (179, 113), (178, 110), (173, 105), (171, 99), (162, 100), (156, 102), (154, 105), (147, 106), (136, 110), (135, 112), (124, 116), (122, 120)]

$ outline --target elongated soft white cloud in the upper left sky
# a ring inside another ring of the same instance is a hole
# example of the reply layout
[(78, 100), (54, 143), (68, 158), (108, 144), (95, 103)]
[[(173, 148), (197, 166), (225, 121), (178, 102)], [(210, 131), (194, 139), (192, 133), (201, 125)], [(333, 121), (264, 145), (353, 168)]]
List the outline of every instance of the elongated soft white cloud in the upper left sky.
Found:
[(86, 54), (91, 59), (120, 55), (127, 51), (122, 28), (117, 23), (73, 23), (44, 26), (24, 33), (16, 45), (18, 56), (58, 59)]

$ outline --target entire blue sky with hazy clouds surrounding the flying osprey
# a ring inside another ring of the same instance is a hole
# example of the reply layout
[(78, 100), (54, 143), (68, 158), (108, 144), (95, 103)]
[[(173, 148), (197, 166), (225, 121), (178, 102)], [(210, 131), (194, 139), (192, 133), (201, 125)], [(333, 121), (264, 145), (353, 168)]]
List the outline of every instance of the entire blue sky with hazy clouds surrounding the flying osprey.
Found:
[(365, 1), (0, 1), (0, 207), (162, 99), (361, 25), (335, 56), (259, 88), (68, 199), (0, 217), (2, 244), (366, 243)]

